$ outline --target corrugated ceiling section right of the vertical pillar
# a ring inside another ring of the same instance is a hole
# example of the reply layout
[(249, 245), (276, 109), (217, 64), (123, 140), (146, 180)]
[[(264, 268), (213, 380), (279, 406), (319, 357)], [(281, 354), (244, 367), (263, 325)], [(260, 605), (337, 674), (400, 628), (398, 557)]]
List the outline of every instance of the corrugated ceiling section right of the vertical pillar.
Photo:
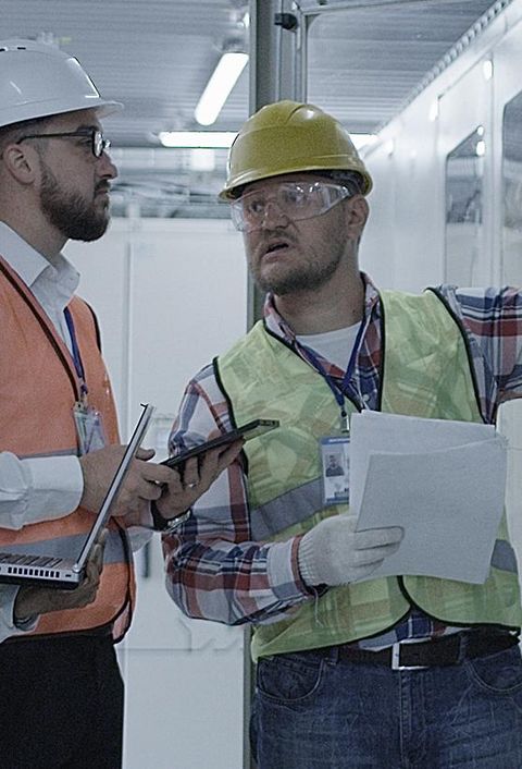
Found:
[[(316, 0), (306, 4), (318, 8)], [(308, 98), (328, 106), (351, 131), (372, 133), (397, 114), (492, 2), (358, 0), (326, 7), (335, 10), (310, 16)]]

